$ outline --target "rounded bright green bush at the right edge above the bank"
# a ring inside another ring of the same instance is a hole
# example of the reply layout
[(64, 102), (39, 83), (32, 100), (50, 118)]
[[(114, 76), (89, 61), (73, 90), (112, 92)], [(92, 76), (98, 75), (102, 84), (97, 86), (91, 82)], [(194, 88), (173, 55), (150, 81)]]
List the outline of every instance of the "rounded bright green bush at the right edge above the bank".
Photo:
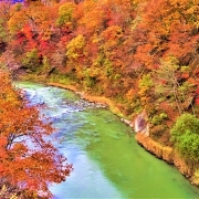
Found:
[(182, 114), (170, 130), (171, 142), (177, 150), (188, 160), (199, 163), (199, 119), (190, 114)]

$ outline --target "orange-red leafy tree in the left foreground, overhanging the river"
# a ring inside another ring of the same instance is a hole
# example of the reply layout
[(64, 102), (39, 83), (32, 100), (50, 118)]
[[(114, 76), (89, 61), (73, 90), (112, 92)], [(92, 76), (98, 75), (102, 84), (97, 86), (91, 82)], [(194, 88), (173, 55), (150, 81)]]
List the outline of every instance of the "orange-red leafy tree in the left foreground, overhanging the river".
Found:
[(71, 166), (46, 139), (50, 123), (21, 100), (8, 74), (0, 80), (0, 185), (51, 197), (48, 185), (65, 180)]

